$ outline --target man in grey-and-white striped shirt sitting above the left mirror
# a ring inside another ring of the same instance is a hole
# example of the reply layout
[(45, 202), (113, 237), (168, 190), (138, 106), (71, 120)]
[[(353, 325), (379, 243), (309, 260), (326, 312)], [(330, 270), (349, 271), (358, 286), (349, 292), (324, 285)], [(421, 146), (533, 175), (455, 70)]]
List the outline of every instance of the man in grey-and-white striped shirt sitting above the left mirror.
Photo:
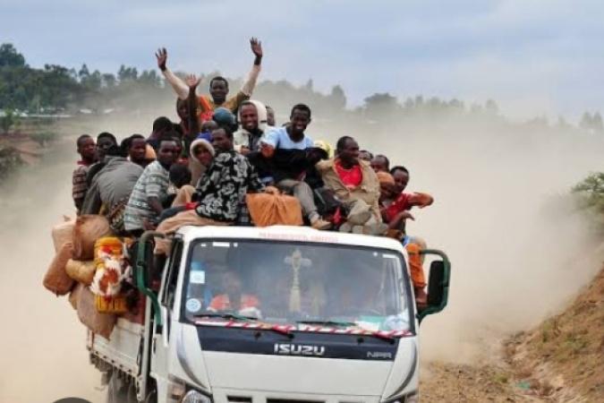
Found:
[(178, 158), (174, 138), (166, 135), (159, 140), (157, 160), (150, 163), (134, 185), (124, 213), (124, 227), (133, 236), (155, 227), (163, 207), (169, 184), (169, 170)]

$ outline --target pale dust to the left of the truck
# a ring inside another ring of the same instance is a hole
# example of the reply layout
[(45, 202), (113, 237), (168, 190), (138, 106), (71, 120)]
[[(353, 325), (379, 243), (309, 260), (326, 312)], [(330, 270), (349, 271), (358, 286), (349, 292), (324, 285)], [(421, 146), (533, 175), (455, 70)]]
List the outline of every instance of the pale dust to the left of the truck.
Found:
[(75, 139), (102, 131), (119, 138), (149, 133), (153, 118), (66, 124), (57, 150), (37, 167), (25, 168), (6, 184), (0, 196), (0, 402), (54, 402), (80, 397), (104, 401), (100, 373), (89, 364), (86, 328), (66, 296), (56, 297), (42, 286), (55, 251), (51, 228), (74, 217), (71, 197)]

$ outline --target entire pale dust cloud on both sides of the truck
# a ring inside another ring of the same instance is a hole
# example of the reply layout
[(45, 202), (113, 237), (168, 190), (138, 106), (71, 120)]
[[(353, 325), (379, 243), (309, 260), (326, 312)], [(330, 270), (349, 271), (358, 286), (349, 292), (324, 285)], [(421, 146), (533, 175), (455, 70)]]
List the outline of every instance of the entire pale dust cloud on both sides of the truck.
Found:
[[(289, 106), (274, 107), (279, 116), (287, 115)], [(66, 298), (41, 285), (53, 256), (50, 228), (63, 214), (73, 214), (75, 136), (148, 134), (153, 117), (106, 117), (94, 127), (65, 129), (61, 152), (3, 190), (0, 401), (101, 401), (85, 328)], [(408, 190), (434, 195), (435, 204), (414, 210), (416, 221), (408, 224), (410, 234), (446, 251), (453, 262), (447, 310), (421, 325), (424, 359), (475, 359), (498, 339), (557, 312), (599, 269), (589, 225), (566, 196), (575, 182), (600, 169), (604, 141), (595, 136), (467, 119), (387, 128), (317, 119), (309, 133), (334, 143), (339, 135), (353, 135), (362, 148), (408, 167)]]

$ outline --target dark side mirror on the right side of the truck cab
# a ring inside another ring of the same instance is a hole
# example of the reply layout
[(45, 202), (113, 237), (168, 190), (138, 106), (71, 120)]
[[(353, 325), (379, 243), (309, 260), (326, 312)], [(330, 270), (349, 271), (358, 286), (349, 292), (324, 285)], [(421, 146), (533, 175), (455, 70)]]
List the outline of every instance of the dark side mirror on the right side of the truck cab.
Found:
[(417, 314), (419, 322), (431, 313), (439, 313), (448, 303), (449, 280), (451, 277), (451, 262), (444, 252), (436, 249), (425, 249), (421, 254), (434, 254), (441, 260), (430, 263), (430, 278), (428, 279), (428, 305)]

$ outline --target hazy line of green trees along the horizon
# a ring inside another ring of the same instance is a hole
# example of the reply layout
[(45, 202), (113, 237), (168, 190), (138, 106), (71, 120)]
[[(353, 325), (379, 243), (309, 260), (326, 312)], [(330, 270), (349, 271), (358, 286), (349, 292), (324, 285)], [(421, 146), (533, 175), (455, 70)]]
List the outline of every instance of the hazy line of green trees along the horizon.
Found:
[[(151, 63), (155, 67), (155, 60), (149, 55), (149, 64)], [(139, 116), (166, 115), (166, 105), (174, 105), (174, 92), (165, 85), (161, 74), (156, 72), (155, 68), (139, 72), (136, 67), (126, 65), (122, 65), (116, 73), (102, 73), (98, 70), (91, 72), (87, 64), (82, 64), (77, 70), (58, 64), (33, 68), (12, 44), (4, 43), (0, 46), (0, 110), (18, 110), (30, 114), (72, 114), (88, 109), (93, 114), (103, 114), (110, 110)], [(213, 72), (200, 75), (208, 82), (208, 78), (218, 74), (219, 72)], [(233, 89), (242, 84), (240, 79), (229, 81)], [(458, 99), (436, 97), (424, 99), (416, 96), (399, 100), (386, 92), (372, 94), (364, 99), (361, 107), (350, 108), (346, 105), (345, 90), (341, 86), (335, 85), (328, 94), (323, 94), (314, 89), (312, 80), (302, 86), (294, 86), (289, 81), (260, 81), (254, 96), (272, 106), (291, 106), (303, 102), (312, 107), (313, 116), (319, 119), (346, 121), (355, 128), (362, 124), (362, 130), (371, 128), (368, 122), (391, 124), (405, 119), (435, 117), (462, 116), (469, 117), (472, 121), (505, 121), (499, 114), (497, 103), (492, 99), (484, 105), (465, 105)], [(277, 110), (277, 114), (281, 116), (286, 113), (287, 111)], [(527, 124), (547, 126), (548, 122), (545, 118), (538, 117)], [(568, 128), (570, 125), (559, 117), (556, 127)], [(586, 112), (578, 127), (588, 133), (604, 133), (599, 112)]]

